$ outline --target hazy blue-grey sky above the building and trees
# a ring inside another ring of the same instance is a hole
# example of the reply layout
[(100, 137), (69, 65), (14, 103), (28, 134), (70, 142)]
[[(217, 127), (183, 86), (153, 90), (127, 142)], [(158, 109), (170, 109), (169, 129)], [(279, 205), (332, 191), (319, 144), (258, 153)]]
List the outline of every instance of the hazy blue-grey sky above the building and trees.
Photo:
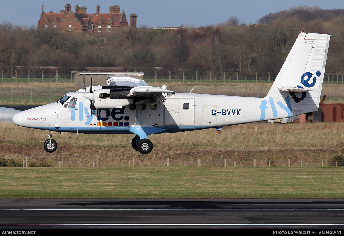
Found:
[(194, 27), (207, 26), (226, 22), (231, 16), (236, 16), (240, 22), (256, 23), (261, 17), (277, 11), (307, 5), (318, 6), (322, 9), (344, 9), (344, 1), (340, 0), (67, 0), (58, 3), (57, 1), (46, 0), (1, 0), (0, 23), (8, 20), (13, 24), (36, 26), (42, 12), (54, 12), (64, 10), (68, 3), (86, 6), (87, 13), (96, 13), (96, 6), (99, 4), (100, 13), (109, 13), (109, 7), (120, 6), (124, 9), (129, 21), (129, 15), (138, 15), (137, 25), (157, 26), (181, 26), (182, 24)]

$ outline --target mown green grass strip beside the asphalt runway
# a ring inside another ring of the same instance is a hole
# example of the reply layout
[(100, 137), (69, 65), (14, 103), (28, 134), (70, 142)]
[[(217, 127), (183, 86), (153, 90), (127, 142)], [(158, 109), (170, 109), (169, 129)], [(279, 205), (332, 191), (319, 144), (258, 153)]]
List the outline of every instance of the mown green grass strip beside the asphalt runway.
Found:
[(0, 199), (342, 198), (343, 168), (1, 168)]

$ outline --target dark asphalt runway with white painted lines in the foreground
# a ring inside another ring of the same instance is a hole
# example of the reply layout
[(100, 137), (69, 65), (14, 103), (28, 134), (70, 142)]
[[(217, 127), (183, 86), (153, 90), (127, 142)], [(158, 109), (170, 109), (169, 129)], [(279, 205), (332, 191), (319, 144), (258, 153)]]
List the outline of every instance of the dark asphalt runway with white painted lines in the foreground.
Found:
[(266, 229), (318, 234), (344, 229), (344, 200), (0, 200), (0, 229)]

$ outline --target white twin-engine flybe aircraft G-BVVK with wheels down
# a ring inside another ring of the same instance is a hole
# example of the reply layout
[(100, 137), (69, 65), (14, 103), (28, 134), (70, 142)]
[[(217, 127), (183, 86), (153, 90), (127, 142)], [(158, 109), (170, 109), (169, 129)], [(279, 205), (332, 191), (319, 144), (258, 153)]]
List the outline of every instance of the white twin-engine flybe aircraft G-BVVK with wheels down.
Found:
[(57, 143), (52, 132), (132, 133), (133, 149), (147, 154), (154, 133), (172, 133), (281, 119), (316, 111), (330, 35), (299, 34), (265, 98), (175, 93), (126, 76), (106, 78), (109, 86), (67, 93), (56, 103), (22, 111), (13, 123), (49, 130), (47, 152)]

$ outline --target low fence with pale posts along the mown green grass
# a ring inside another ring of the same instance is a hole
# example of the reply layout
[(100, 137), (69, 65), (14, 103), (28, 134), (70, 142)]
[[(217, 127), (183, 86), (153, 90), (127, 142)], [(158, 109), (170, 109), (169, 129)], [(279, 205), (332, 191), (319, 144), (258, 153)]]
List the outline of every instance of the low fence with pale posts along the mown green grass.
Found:
[[(59, 160), (57, 160), (59, 159)], [(35, 157), (25, 156), (22, 160), (17, 159), (0, 159), (0, 167), (343, 167), (344, 160), (340, 161), (315, 161), (303, 160), (293, 161), (266, 161), (266, 160), (232, 160), (218, 159), (213, 161), (204, 161), (200, 159), (181, 160), (172, 159), (154, 159), (154, 158), (130, 158), (114, 160), (85, 160), (77, 157)]]

